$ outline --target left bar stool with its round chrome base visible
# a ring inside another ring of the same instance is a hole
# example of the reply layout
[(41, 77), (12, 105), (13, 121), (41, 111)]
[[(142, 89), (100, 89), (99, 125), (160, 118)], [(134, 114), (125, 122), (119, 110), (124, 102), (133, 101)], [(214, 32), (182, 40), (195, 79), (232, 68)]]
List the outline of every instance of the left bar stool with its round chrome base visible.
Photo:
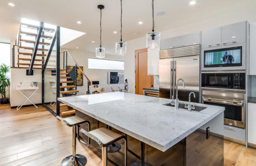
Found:
[(72, 127), (72, 155), (69, 155), (65, 159), (62, 160), (61, 165), (62, 166), (83, 166), (87, 163), (87, 159), (84, 155), (76, 154), (76, 138), (77, 138), (77, 126), (81, 125), (82, 123), (88, 124), (88, 129), (90, 131), (91, 125), (90, 122), (84, 120), (81, 117), (78, 116), (71, 116), (67, 118), (63, 118), (63, 122), (69, 126)]

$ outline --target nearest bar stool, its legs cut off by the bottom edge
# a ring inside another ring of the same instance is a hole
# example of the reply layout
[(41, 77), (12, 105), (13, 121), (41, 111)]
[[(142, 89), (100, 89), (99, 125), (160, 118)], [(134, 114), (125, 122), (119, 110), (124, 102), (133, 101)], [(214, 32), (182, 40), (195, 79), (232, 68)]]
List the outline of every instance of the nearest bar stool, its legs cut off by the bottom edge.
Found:
[(100, 145), (102, 151), (102, 166), (107, 166), (107, 146), (116, 141), (119, 141), (120, 139), (124, 139), (125, 166), (127, 165), (127, 140), (125, 136), (122, 136), (122, 134), (116, 133), (105, 127), (97, 128), (89, 132), (85, 131), (84, 129), (81, 129), (80, 132), (85, 136), (93, 139)]

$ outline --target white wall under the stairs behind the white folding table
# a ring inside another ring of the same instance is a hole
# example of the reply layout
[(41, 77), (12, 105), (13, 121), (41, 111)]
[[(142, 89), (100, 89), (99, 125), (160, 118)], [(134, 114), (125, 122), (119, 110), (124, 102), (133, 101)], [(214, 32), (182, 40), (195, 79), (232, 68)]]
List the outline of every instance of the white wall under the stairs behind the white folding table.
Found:
[[(18, 68), (11, 68), (11, 96), (10, 96), (10, 103), (11, 107), (18, 106), (24, 96), (16, 90), (16, 87), (20, 85), (22, 82), (22, 86), (30, 86), (32, 81), (38, 82), (39, 89), (37, 92), (31, 97), (31, 101), (34, 103), (42, 103), (42, 70), (35, 69), (34, 75), (26, 75), (26, 69), (18, 69)], [(23, 91), (24, 94), (29, 94), (31, 91)], [(31, 105), (32, 103), (27, 101), (24, 105)]]

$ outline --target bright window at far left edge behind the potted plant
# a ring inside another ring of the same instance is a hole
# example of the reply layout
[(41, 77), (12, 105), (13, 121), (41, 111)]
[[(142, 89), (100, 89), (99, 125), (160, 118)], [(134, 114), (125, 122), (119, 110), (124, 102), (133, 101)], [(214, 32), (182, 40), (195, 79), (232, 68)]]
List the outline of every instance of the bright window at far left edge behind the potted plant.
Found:
[[(11, 48), (9, 43), (0, 43), (0, 65), (6, 64), (7, 66), (10, 66), (10, 49)], [(6, 75), (8, 78), (10, 77), (9, 72)]]

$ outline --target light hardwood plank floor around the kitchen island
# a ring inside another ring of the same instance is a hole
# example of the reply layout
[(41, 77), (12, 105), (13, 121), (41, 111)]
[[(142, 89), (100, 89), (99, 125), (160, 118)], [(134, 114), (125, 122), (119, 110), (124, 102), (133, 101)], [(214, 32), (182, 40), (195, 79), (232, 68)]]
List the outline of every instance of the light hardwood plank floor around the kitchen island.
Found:
[[(58, 121), (44, 107), (17, 111), (0, 105), (0, 165), (60, 165), (72, 154), (72, 128)], [(77, 154), (86, 165), (101, 165), (101, 154), (77, 142)], [(256, 165), (256, 149), (224, 141), (224, 165)]]

